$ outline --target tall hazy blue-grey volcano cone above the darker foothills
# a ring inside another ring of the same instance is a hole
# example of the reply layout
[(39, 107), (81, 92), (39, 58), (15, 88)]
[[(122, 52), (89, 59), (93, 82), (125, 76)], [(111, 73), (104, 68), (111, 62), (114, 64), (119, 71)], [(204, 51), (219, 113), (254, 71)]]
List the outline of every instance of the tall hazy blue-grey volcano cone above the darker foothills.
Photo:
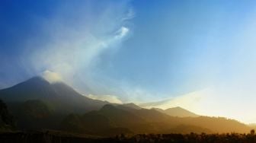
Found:
[(13, 87), (1, 90), (0, 98), (6, 103), (42, 100), (60, 113), (85, 113), (98, 110), (107, 103), (82, 96), (65, 83), (50, 84), (40, 77), (30, 78)]

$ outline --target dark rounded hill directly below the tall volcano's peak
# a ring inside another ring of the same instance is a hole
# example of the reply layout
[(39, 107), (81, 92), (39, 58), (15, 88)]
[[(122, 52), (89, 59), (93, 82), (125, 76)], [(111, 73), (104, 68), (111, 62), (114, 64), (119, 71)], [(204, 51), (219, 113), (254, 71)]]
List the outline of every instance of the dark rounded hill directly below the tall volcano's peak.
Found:
[(11, 103), (11, 113), (17, 121), (18, 129), (58, 129), (65, 115), (54, 110), (42, 100), (27, 100)]

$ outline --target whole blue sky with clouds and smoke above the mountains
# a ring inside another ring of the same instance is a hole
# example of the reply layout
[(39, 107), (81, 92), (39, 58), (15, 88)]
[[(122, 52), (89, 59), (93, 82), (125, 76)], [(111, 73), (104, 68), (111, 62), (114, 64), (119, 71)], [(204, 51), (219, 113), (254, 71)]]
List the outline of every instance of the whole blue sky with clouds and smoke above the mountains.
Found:
[(256, 122), (256, 2), (0, 2), (0, 89), (40, 75), (85, 96)]

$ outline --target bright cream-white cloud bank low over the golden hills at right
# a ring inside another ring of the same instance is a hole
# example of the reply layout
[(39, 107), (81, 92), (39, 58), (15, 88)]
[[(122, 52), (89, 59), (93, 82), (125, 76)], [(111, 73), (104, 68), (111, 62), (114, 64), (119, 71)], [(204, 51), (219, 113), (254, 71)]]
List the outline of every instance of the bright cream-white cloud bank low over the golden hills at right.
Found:
[[(255, 122), (254, 116), (256, 97), (243, 92), (243, 97), (239, 96), (242, 93), (220, 87), (209, 87), (200, 91), (190, 92), (171, 99), (138, 102), (139, 106), (144, 108), (162, 108), (168, 109), (174, 106), (181, 106), (186, 110), (197, 113), (202, 116), (224, 116), (230, 119), (237, 119), (241, 122)], [(246, 111), (246, 112), (245, 112)]]

